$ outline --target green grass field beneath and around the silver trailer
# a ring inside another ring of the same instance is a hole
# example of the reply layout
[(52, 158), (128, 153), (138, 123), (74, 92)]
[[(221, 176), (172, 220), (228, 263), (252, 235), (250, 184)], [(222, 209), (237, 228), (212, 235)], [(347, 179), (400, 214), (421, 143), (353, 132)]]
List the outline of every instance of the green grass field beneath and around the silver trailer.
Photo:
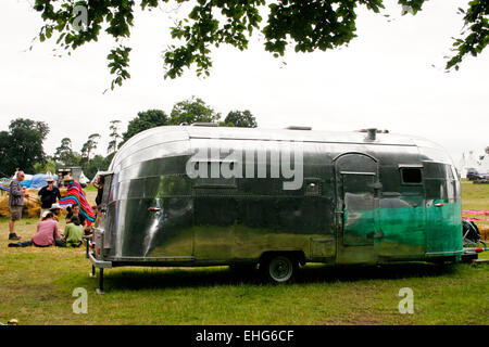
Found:
[[(463, 184), (464, 209), (488, 209), (488, 196), (489, 185)], [(18, 222), (23, 240), (34, 234), (36, 222)], [(8, 248), (8, 218), (0, 218), (0, 230), (3, 323), (16, 318), (21, 324), (489, 324), (487, 264), (309, 265), (297, 283), (279, 286), (227, 267), (118, 268), (105, 272), (106, 293), (97, 295), (84, 249)], [(88, 292), (86, 314), (72, 309), (77, 287)], [(413, 314), (398, 310), (403, 287), (413, 291)]]

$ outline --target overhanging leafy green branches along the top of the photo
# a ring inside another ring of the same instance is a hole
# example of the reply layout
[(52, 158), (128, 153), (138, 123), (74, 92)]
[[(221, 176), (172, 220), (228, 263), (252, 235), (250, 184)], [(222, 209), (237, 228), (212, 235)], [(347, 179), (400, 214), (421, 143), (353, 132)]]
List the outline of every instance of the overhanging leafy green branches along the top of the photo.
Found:
[[(416, 14), (427, 0), (398, 0), (402, 13)], [(122, 43), (130, 37), (134, 11), (138, 2), (142, 10), (151, 10), (170, 0), (36, 0), (45, 25), (39, 40), (57, 34), (57, 44), (68, 54), (80, 46), (97, 41), (102, 30), (112, 36), (116, 47), (108, 54), (109, 67), (114, 75), (112, 88), (130, 78), (128, 73), (130, 47)], [(197, 67), (197, 74), (209, 75), (211, 52), (220, 44), (231, 44), (246, 50), (255, 31), (264, 36), (264, 49), (275, 56), (284, 55), (288, 46), (296, 52), (330, 50), (349, 43), (356, 35), (359, 7), (375, 13), (384, 9), (383, 0), (176, 0), (193, 5), (189, 13), (178, 13), (171, 28), (172, 38), (180, 44), (170, 43), (164, 54), (165, 78), (181, 76), (184, 68)], [(472, 0), (463, 14), (464, 28), (454, 38), (453, 56), (446, 68), (459, 69), (467, 54), (479, 54), (489, 42), (489, 2)], [(181, 11), (180, 11), (181, 12)], [(267, 14), (262, 25), (262, 15)]]

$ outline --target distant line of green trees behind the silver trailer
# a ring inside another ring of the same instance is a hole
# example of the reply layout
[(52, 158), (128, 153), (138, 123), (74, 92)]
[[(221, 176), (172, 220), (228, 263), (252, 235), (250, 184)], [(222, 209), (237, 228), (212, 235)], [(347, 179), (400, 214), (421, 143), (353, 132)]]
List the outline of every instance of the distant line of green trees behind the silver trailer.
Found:
[(115, 152), (136, 133), (150, 128), (193, 123), (217, 123), (222, 127), (258, 126), (250, 111), (230, 111), (222, 115), (199, 98), (176, 103), (167, 115), (162, 110), (139, 112), (121, 134), (121, 120), (110, 121), (110, 139), (106, 156), (95, 154), (101, 136), (91, 133), (79, 152), (75, 151), (70, 138), (63, 138), (52, 155), (43, 152), (42, 143), (49, 133), (43, 121), (17, 118), (10, 123), (9, 131), (0, 132), (0, 177), (11, 177), (17, 168), (27, 174), (55, 172), (60, 167), (80, 166), (85, 176), (92, 178), (97, 171), (106, 170)]

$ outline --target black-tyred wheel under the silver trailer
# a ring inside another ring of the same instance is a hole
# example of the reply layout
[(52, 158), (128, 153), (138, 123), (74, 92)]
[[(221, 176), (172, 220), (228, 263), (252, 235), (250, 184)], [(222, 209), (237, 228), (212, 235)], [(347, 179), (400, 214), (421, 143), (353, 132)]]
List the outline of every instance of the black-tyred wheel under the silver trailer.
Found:
[(294, 258), (285, 255), (272, 255), (263, 261), (260, 269), (267, 282), (290, 283), (293, 282), (298, 262)]

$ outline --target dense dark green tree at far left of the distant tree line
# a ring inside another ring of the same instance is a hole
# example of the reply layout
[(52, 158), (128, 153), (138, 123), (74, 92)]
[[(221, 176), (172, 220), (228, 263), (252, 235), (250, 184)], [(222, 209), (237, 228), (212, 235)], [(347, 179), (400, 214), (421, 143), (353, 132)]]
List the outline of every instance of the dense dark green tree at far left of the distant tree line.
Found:
[(0, 132), (0, 175), (10, 177), (16, 168), (33, 172), (36, 163), (45, 163), (42, 142), (48, 133), (49, 127), (43, 121), (12, 120), (9, 131)]

